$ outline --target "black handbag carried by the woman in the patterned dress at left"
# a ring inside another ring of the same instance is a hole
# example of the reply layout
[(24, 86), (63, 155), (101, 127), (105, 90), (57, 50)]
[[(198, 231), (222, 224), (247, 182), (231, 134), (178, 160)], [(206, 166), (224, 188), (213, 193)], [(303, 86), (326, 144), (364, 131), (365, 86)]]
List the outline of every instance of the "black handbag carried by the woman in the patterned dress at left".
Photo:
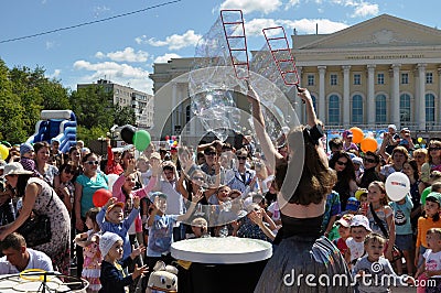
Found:
[[(52, 192), (51, 199), (49, 200), (46, 207), (51, 205), (53, 196), (54, 193)], [(32, 210), (29, 218), (17, 231), (24, 237), (26, 240), (26, 246), (30, 248), (44, 245), (51, 241), (52, 238), (51, 219), (46, 215)]]

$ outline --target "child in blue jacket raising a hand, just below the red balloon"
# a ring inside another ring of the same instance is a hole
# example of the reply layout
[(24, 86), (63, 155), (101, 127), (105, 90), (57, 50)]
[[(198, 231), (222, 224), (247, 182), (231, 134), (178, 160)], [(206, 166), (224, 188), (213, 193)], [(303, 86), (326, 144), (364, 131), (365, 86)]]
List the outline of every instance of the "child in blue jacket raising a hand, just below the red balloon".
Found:
[[(125, 204), (117, 202), (116, 197), (109, 198), (106, 205), (99, 210), (97, 215), (97, 223), (103, 232), (115, 232), (123, 240), (123, 256), (126, 259), (131, 252), (129, 240), (129, 228), (139, 215), (140, 199), (138, 196), (133, 197), (133, 208), (127, 218), (123, 217)], [(103, 251), (101, 251), (103, 252)]]

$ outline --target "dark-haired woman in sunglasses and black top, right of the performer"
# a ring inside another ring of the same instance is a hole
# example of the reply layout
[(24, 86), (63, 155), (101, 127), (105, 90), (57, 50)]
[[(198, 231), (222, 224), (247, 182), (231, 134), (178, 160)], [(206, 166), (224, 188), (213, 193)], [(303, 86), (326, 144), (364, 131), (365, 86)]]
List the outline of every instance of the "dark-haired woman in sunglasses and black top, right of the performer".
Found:
[(346, 210), (347, 199), (358, 189), (354, 163), (345, 151), (334, 153), (330, 160), (330, 167), (337, 172), (337, 183), (333, 188), (340, 195), (342, 210)]

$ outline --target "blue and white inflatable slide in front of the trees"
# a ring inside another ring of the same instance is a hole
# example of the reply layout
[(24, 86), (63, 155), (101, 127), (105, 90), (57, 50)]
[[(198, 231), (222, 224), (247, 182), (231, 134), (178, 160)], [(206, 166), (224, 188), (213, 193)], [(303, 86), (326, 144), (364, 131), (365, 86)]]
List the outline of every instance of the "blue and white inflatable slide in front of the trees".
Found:
[(60, 141), (60, 151), (67, 152), (76, 144), (76, 117), (71, 110), (43, 110), (35, 124), (35, 133), (26, 142)]

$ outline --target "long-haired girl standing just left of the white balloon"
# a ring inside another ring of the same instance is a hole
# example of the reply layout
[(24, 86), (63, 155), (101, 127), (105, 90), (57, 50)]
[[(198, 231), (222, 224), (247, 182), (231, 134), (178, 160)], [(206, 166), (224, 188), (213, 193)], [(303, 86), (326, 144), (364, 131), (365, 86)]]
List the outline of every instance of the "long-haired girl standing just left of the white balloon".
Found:
[[(364, 207), (363, 214), (369, 220), (369, 226), (373, 232), (383, 235), (388, 243), (386, 246), (385, 256), (388, 259), (392, 258), (392, 248), (395, 245), (395, 223), (394, 210), (388, 205), (385, 184), (380, 181), (374, 181), (367, 187), (367, 202), (369, 206)], [(376, 214), (377, 219), (375, 217)], [(379, 223), (378, 223), (379, 221)]]

